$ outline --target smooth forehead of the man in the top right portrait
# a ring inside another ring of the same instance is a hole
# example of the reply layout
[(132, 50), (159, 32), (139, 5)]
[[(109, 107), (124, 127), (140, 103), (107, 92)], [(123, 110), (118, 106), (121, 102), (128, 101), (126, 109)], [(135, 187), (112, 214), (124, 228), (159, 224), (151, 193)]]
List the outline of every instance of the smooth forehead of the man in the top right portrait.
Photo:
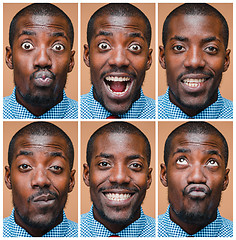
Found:
[(189, 36), (194, 38), (200, 36), (206, 38), (217, 36), (223, 38), (223, 24), (216, 16), (185, 15), (173, 16), (168, 25), (169, 40), (174, 35)]

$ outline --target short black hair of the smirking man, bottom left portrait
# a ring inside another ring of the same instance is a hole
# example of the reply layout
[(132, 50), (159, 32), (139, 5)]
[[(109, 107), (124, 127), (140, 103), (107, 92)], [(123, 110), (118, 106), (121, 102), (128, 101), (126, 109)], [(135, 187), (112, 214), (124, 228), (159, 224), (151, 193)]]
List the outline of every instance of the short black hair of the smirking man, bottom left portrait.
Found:
[(50, 122), (33, 122), (30, 123), (23, 128), (21, 128), (15, 135), (12, 137), (9, 148), (8, 148), (8, 165), (11, 168), (13, 156), (15, 152), (15, 143), (19, 137), (25, 135), (36, 135), (36, 136), (60, 136), (67, 143), (67, 156), (69, 159), (70, 170), (73, 168), (74, 163), (74, 147), (73, 144), (68, 137), (68, 135), (56, 125)]

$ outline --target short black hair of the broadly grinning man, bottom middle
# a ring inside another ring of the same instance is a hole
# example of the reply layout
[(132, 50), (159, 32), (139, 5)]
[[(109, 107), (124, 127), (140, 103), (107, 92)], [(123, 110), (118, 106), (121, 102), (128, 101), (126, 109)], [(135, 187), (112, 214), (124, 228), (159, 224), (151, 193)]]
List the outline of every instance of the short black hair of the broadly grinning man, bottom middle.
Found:
[(93, 147), (94, 142), (97, 139), (98, 136), (104, 134), (104, 133), (123, 133), (123, 134), (135, 134), (138, 136), (141, 136), (145, 142), (145, 150), (146, 150), (146, 156), (147, 156), (147, 162), (148, 166), (150, 166), (151, 161), (151, 147), (150, 143), (146, 137), (146, 135), (138, 129), (136, 126), (134, 126), (131, 123), (128, 122), (110, 122), (108, 124), (103, 125), (99, 129), (97, 129), (89, 138), (88, 144), (87, 144), (87, 152), (86, 152), (86, 161), (87, 164), (90, 166), (92, 155), (93, 155)]

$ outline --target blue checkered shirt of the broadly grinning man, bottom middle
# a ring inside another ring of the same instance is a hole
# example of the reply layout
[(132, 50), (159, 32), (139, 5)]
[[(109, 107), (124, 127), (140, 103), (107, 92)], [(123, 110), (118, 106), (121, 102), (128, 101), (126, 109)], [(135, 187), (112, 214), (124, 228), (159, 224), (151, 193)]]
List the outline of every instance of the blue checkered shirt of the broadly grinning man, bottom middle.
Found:
[(81, 215), (81, 237), (109, 237), (111, 235), (118, 235), (119, 237), (155, 237), (156, 221), (154, 218), (145, 215), (141, 208), (141, 215), (138, 220), (130, 224), (122, 231), (114, 234), (94, 219), (93, 207), (91, 207), (88, 213)]

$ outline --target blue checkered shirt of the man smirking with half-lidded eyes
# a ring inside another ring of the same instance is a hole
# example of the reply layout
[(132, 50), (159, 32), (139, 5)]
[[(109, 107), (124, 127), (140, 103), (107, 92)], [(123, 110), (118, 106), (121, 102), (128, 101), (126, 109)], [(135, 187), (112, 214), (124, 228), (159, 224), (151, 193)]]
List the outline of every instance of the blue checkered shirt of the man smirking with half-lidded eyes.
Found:
[[(14, 209), (9, 217), (3, 219), (3, 237), (32, 237), (24, 228), (16, 224)], [(62, 222), (42, 237), (78, 237), (78, 223), (67, 219), (63, 212)]]

